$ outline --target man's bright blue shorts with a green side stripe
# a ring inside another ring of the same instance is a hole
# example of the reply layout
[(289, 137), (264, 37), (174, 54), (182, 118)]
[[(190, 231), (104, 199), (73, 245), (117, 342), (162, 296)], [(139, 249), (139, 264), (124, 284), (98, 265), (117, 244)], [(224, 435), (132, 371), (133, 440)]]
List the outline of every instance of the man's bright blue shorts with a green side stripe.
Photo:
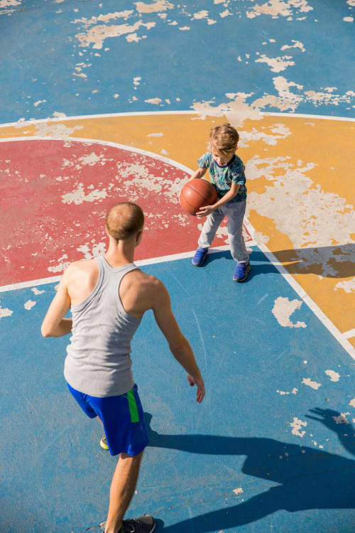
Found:
[(69, 383), (67, 386), (89, 418), (99, 416), (104, 424), (111, 456), (118, 453), (138, 456), (146, 448), (149, 439), (137, 385), (126, 394), (105, 398), (79, 392), (70, 387)]

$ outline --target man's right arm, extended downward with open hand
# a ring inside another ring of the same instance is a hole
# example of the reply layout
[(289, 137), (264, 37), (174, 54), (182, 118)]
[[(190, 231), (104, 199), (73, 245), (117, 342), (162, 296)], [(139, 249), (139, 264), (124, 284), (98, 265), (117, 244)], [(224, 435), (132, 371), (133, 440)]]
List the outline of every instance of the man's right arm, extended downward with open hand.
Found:
[(197, 402), (204, 398), (204, 381), (192, 352), (190, 343), (182, 335), (178, 323), (171, 311), (170, 296), (164, 284), (159, 281), (155, 286), (153, 313), (160, 330), (168, 340), (170, 351), (182, 368), (187, 372), (187, 379), (191, 386), (197, 386)]

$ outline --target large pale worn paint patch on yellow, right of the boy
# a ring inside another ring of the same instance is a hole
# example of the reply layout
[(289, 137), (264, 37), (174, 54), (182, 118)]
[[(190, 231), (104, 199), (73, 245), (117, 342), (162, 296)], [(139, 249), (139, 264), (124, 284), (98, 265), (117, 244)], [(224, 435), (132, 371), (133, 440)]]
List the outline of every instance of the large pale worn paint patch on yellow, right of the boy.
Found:
[[(324, 275), (336, 275), (335, 264), (351, 260), (352, 252), (349, 244), (337, 249), (329, 248), (329, 243), (354, 242), (354, 207), (339, 195), (324, 192), (307, 176), (316, 166), (312, 162), (291, 163), (288, 157), (253, 156), (246, 162), (248, 180), (264, 178), (271, 186), (266, 185), (260, 194), (251, 190), (246, 217), (256, 210), (273, 220), (275, 227), (298, 248), (294, 255), (300, 261), (300, 269), (320, 264)], [(280, 205), (282, 209), (278, 208)]]

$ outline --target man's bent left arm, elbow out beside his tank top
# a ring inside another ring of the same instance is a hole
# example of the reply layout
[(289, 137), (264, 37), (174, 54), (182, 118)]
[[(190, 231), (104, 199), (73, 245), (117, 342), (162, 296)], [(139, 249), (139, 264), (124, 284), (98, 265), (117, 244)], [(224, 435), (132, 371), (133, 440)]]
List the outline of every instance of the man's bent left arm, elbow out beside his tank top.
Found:
[(43, 337), (62, 337), (72, 331), (72, 319), (63, 318), (70, 308), (70, 296), (67, 292), (66, 281), (65, 272), (40, 328)]

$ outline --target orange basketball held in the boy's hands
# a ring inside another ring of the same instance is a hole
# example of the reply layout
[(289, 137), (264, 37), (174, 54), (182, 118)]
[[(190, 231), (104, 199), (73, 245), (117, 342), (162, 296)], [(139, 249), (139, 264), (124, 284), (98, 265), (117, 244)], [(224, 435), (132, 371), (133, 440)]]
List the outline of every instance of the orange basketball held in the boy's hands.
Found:
[(217, 202), (217, 190), (209, 181), (196, 178), (182, 187), (179, 202), (185, 212), (195, 216), (204, 205)]

